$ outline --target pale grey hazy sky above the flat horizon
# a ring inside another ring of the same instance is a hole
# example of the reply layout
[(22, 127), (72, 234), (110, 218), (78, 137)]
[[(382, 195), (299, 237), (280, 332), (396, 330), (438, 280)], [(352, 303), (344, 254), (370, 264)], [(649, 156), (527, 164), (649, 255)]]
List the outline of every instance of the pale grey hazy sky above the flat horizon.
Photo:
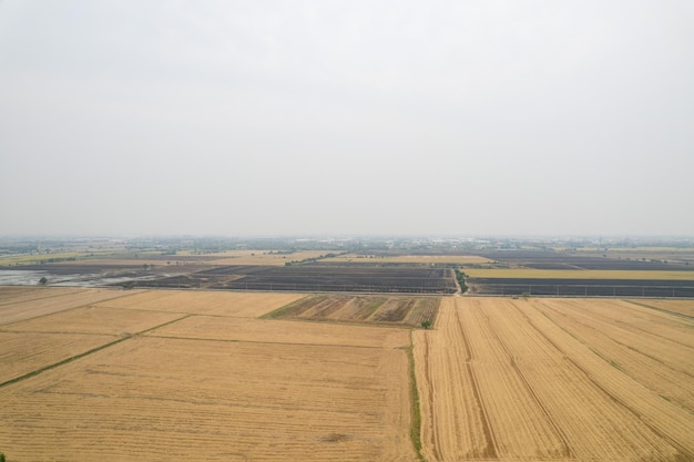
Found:
[(694, 235), (692, 1), (0, 0), (0, 235)]

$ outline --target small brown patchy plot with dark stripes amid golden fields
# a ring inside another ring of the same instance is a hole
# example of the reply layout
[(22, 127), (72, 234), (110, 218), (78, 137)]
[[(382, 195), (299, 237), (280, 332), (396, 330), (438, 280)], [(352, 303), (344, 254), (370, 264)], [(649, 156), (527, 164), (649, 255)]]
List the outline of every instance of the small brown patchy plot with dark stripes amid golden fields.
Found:
[(267, 317), (419, 327), (422, 321), (433, 324), (439, 302), (439, 297), (313, 295)]

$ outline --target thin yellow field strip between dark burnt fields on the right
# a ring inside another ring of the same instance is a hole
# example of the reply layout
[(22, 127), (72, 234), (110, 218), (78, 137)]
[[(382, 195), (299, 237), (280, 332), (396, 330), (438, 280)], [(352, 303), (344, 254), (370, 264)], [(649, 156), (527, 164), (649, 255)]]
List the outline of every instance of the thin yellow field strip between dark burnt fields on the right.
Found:
[(466, 268), (465, 274), (472, 278), (694, 280), (694, 269), (691, 271), (642, 271), (595, 269)]

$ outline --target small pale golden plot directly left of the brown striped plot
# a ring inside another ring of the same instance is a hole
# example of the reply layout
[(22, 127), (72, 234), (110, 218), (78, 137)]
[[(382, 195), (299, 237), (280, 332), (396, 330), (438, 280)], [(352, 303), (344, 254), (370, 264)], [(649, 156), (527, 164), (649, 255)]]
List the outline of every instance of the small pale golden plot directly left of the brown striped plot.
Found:
[(305, 296), (305, 294), (149, 290), (109, 300), (99, 306), (255, 318)]

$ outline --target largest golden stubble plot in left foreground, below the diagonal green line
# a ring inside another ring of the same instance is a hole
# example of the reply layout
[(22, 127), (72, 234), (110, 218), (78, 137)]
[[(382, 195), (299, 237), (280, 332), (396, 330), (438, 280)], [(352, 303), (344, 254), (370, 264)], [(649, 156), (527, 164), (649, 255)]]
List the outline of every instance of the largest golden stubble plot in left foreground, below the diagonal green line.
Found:
[(402, 350), (133, 338), (0, 389), (0, 446), (16, 460), (412, 461), (408, 392)]

